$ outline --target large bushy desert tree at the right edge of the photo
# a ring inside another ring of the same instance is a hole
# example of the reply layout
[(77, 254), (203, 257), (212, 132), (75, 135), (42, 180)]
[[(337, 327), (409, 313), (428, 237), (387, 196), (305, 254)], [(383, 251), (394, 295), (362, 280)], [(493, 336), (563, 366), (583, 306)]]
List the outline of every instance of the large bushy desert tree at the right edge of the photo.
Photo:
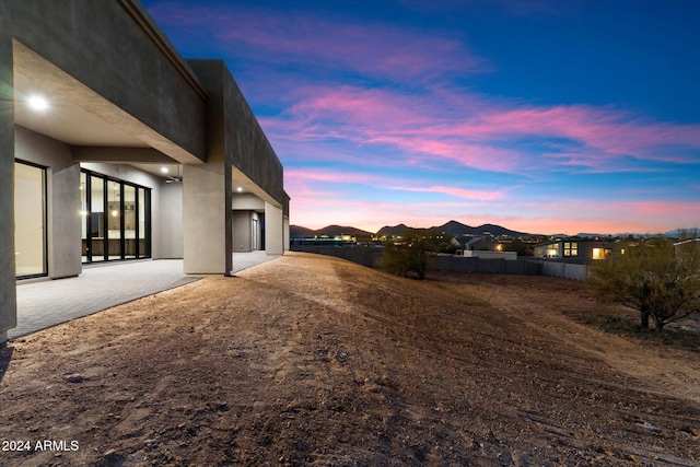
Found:
[(600, 301), (638, 310), (642, 328), (651, 318), (661, 331), (700, 312), (700, 243), (620, 242), (610, 258), (593, 268), (590, 282)]

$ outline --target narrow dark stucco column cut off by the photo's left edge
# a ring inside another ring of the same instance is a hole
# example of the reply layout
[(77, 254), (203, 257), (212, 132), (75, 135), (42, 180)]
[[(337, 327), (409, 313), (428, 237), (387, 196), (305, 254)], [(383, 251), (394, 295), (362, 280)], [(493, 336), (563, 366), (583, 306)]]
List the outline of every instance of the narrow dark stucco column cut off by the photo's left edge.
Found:
[(0, 342), (18, 325), (14, 266), (14, 79), (12, 39), (0, 36)]

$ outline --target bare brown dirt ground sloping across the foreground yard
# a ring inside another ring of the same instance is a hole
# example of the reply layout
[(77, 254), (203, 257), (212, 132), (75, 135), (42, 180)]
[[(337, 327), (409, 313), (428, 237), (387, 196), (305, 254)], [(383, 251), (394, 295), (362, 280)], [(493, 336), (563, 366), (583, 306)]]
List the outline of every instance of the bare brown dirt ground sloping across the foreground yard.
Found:
[(289, 254), (11, 341), (0, 464), (698, 465), (698, 335), (619, 315)]

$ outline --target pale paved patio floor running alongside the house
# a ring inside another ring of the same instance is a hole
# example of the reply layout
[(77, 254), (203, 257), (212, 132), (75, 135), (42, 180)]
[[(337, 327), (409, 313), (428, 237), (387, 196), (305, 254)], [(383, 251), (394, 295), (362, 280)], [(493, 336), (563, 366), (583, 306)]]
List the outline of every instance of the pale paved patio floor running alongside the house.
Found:
[[(233, 273), (279, 256), (265, 252), (233, 255)], [(18, 327), (9, 339), (36, 332), (132, 300), (200, 279), (183, 272), (182, 259), (109, 262), (83, 267), (77, 278), (18, 282)]]

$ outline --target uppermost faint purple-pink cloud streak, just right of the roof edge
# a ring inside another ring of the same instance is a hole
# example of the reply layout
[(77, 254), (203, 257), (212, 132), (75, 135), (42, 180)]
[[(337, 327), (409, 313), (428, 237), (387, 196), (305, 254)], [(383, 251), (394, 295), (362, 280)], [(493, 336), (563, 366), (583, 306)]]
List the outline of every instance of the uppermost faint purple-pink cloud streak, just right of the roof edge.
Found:
[[(150, 9), (166, 24), (207, 30), (236, 54), (281, 63), (313, 63), (380, 77), (428, 77), (433, 71), (482, 72), (489, 68), (457, 39), (434, 37), (386, 23), (328, 20), (264, 8), (185, 8), (161, 3)], [(201, 33), (200, 33), (201, 34)]]

